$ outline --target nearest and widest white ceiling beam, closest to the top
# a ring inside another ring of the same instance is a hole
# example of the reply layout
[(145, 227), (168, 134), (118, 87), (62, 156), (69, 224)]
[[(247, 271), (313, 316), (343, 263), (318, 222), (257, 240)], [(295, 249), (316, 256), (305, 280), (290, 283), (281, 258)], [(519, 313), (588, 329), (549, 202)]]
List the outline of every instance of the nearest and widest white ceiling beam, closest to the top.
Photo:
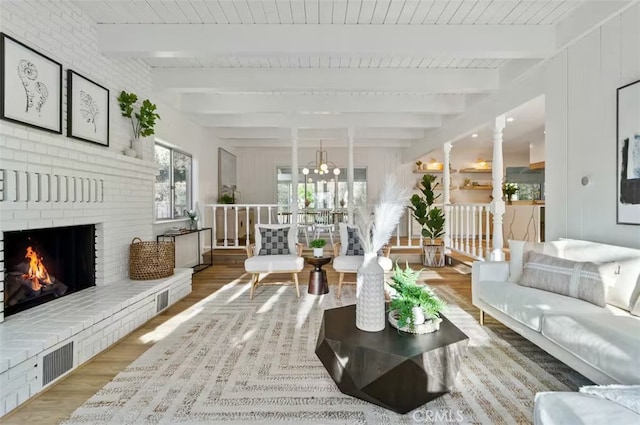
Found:
[(394, 55), (542, 58), (548, 25), (99, 24), (98, 48), (120, 57)]

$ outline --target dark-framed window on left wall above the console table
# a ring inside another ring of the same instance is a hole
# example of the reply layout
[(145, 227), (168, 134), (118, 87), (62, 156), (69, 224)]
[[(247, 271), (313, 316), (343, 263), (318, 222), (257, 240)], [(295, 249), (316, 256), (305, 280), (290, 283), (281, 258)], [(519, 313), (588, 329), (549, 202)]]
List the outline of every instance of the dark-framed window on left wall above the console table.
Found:
[(158, 166), (155, 186), (156, 220), (186, 217), (191, 204), (191, 155), (155, 144)]

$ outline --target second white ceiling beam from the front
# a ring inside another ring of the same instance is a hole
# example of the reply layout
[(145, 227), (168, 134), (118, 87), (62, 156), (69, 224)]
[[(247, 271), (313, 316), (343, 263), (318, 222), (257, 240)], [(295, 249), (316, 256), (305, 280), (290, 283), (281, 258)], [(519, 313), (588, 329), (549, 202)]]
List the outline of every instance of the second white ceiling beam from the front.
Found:
[(498, 89), (495, 69), (156, 68), (156, 90), (474, 93)]

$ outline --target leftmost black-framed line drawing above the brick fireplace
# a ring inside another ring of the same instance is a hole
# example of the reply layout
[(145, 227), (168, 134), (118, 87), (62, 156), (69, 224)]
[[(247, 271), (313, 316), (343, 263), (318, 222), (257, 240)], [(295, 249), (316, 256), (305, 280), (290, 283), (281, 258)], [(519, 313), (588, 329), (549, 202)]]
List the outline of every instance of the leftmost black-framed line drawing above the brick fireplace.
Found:
[(0, 115), (62, 133), (62, 65), (0, 33)]

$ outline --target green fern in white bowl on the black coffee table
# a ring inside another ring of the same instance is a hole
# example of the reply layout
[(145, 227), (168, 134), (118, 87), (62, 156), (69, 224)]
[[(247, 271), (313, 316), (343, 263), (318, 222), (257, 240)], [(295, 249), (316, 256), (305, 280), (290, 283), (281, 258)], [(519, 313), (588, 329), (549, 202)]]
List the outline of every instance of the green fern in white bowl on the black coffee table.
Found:
[(408, 264), (403, 270), (396, 264), (389, 283), (389, 323), (404, 332), (435, 332), (442, 321), (440, 313), (447, 306), (429, 287), (416, 283), (419, 276), (420, 270), (415, 271)]

